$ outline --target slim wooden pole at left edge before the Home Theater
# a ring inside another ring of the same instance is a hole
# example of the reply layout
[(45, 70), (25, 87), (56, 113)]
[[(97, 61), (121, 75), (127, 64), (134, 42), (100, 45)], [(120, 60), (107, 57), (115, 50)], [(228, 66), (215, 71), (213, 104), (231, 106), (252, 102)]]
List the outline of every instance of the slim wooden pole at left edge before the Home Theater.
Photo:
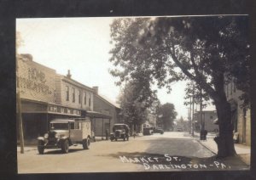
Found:
[(20, 135), (20, 153), (24, 154), (24, 137), (23, 137), (23, 123), (21, 115), (21, 103), (20, 103), (20, 79), (19, 79), (19, 65), (18, 57), (16, 56), (16, 100), (17, 100), (17, 109), (18, 109), (18, 126), (19, 126), (19, 135)]

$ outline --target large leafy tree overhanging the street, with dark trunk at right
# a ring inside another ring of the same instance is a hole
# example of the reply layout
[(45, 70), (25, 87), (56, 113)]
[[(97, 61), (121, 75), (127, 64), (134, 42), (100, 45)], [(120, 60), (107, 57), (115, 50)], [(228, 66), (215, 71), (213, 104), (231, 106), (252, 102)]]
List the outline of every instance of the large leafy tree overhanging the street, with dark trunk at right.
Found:
[(218, 156), (236, 155), (224, 84), (234, 77), (249, 103), (247, 21), (247, 16), (113, 20), (113, 76), (122, 82), (143, 74), (144, 81), (169, 89), (171, 82), (195, 83), (201, 97), (216, 106)]

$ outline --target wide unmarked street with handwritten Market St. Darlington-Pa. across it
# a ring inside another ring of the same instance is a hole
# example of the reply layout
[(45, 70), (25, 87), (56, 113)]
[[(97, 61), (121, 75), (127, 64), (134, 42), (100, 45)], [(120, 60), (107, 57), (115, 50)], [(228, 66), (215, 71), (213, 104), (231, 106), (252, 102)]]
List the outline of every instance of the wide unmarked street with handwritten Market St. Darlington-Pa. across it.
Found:
[(18, 155), (18, 173), (63, 172), (144, 172), (203, 171), (247, 169), (239, 160), (214, 160), (214, 155), (188, 132), (165, 132), (130, 137), (129, 141), (98, 141), (84, 150), (71, 146), (68, 154), (61, 149), (37, 149)]

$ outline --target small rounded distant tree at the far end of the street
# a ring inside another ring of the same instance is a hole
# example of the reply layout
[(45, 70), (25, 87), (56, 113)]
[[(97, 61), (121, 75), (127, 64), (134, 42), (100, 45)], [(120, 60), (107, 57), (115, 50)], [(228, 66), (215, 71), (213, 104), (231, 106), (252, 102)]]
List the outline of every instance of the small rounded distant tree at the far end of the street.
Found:
[(158, 124), (162, 125), (164, 130), (173, 129), (173, 121), (176, 119), (177, 112), (173, 104), (166, 103), (160, 105), (158, 110)]

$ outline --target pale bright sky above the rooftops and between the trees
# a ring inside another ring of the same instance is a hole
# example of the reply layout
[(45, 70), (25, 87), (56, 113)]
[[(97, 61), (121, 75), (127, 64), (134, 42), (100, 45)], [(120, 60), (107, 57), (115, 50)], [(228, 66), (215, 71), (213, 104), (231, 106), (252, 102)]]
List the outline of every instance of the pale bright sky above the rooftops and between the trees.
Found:
[[(17, 19), (16, 31), (20, 31), (23, 45), (18, 53), (31, 53), (39, 64), (55, 69), (88, 87), (99, 87), (99, 93), (116, 102), (120, 87), (110, 75), (113, 68), (108, 61), (111, 54), (110, 24), (113, 18), (44, 18)], [(188, 117), (189, 106), (183, 105), (186, 82), (172, 84), (172, 92), (158, 89), (161, 104), (172, 103), (177, 118)], [(214, 110), (213, 106), (207, 110)]]

